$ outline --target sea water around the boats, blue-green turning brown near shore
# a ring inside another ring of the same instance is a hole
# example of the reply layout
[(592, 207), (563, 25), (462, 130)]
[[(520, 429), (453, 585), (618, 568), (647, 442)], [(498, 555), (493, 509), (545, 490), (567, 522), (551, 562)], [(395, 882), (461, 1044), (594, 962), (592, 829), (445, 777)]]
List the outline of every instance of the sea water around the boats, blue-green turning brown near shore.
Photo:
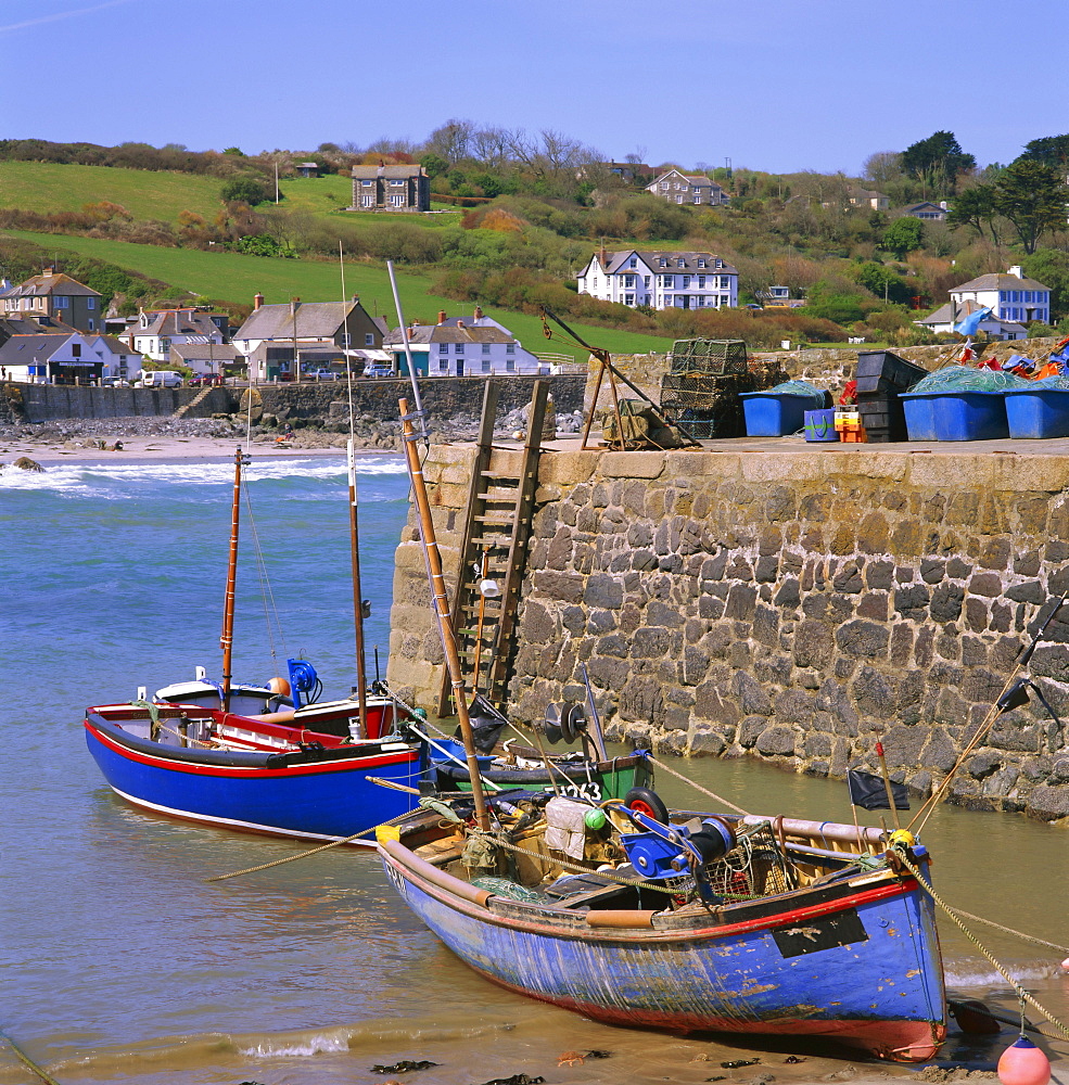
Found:
[[(411, 917), (370, 852), (333, 850), (209, 883), (305, 848), (154, 817), (114, 796), (86, 750), (84, 710), (192, 678), (198, 665), (219, 677), (232, 477), (226, 461), (0, 472), (5, 1036), (64, 1085), (381, 1082), (370, 1068), (400, 1059), (438, 1063), (404, 1075), (417, 1085), (517, 1073), (577, 1085), (759, 1072), (816, 1081), (843, 1069), (823, 1049), (610, 1029), (500, 991)], [(361, 458), (358, 488), (371, 674), (374, 644), (384, 667), (408, 512), (403, 461)], [(246, 492), (234, 676), (263, 680), (298, 656), (317, 667), (324, 695), (342, 695), (355, 680), (344, 463), (254, 457)], [(758, 813), (849, 820), (841, 782), (751, 762), (675, 765)], [(707, 802), (663, 774), (659, 790)], [(1069, 941), (1064, 829), (944, 807), (927, 839), (953, 903)], [(941, 929), (954, 987), (1011, 1012), (1005, 981), (954, 928)], [(1065, 954), (978, 933), (1052, 1009), (1069, 1011)], [(558, 1065), (590, 1050), (611, 1058)], [(788, 1050), (806, 1061), (785, 1063)], [(720, 1069), (753, 1057), (761, 1065)], [(0, 1085), (31, 1080), (0, 1039)]]

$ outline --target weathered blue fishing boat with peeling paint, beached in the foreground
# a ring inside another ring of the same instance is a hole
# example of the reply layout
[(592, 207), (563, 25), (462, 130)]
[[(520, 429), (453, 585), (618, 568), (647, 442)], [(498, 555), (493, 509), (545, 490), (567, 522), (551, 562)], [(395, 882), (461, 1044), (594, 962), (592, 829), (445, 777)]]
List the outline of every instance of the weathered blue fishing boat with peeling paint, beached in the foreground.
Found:
[[(481, 832), (469, 804), (451, 825), (416, 813), (379, 833), (406, 904), (486, 979), (618, 1025), (819, 1037), (906, 1062), (942, 1043), (931, 901), (880, 830), (486, 802), (500, 829)], [(462, 861), (472, 837), (481, 870)], [(908, 835), (895, 846), (927, 869)]]

